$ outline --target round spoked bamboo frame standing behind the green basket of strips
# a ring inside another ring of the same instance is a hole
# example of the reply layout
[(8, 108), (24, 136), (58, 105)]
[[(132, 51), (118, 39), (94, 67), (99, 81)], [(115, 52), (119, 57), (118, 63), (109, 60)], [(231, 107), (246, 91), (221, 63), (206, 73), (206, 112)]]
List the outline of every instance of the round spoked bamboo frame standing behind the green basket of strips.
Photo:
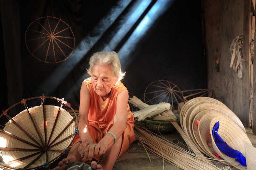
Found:
[(150, 83), (144, 91), (144, 102), (147, 104), (159, 104), (167, 102), (171, 104), (172, 111), (180, 107), (178, 104), (184, 102), (180, 88), (167, 81), (157, 80)]

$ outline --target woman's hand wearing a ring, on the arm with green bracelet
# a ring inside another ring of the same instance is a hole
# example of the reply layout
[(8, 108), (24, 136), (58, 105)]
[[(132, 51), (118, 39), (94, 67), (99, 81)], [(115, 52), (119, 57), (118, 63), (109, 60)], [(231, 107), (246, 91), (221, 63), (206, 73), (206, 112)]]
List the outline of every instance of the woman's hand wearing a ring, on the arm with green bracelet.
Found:
[(93, 157), (101, 156), (106, 152), (106, 147), (100, 143), (94, 143), (87, 146), (84, 150), (84, 158), (82, 159), (83, 162), (87, 160), (91, 160)]

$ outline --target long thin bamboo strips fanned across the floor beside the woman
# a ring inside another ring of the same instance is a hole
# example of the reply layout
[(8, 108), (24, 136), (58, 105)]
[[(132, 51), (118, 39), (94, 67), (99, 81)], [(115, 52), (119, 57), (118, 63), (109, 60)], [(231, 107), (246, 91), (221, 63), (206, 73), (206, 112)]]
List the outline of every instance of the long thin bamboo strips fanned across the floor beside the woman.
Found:
[(163, 158), (163, 160), (166, 160), (179, 168), (184, 170), (221, 170), (210, 160), (205, 159), (204, 156), (202, 157), (195, 155), (184, 148), (175, 145), (171, 141), (143, 129), (143, 127), (134, 125), (134, 131), (138, 135), (141, 145), (145, 148), (145, 150), (149, 150), (156, 156)]

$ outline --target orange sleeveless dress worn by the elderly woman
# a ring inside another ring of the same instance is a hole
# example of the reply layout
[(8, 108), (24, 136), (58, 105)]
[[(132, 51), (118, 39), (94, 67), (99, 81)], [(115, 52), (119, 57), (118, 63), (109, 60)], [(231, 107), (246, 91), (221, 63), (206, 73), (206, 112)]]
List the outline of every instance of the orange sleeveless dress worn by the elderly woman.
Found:
[[(116, 113), (116, 100), (117, 95), (121, 91), (128, 91), (122, 82), (119, 81), (118, 84), (114, 85), (111, 89), (110, 96), (103, 101), (99, 95), (93, 89), (91, 84), (91, 78), (83, 81), (83, 84), (87, 86), (91, 94), (90, 109), (88, 114), (89, 119), (89, 134), (93, 138), (95, 143), (98, 143), (110, 130), (114, 123), (114, 116)], [(103, 102), (102, 102), (103, 101)], [(123, 132), (122, 145), (118, 157), (123, 154), (130, 146), (130, 144), (135, 141), (135, 135), (133, 131), (134, 127), (134, 117), (130, 111), (129, 104), (127, 102), (127, 127)], [(74, 143), (81, 141), (81, 138), (77, 136), (74, 139)], [(98, 158), (97, 158), (98, 160)], [(99, 160), (98, 160), (99, 161)]]

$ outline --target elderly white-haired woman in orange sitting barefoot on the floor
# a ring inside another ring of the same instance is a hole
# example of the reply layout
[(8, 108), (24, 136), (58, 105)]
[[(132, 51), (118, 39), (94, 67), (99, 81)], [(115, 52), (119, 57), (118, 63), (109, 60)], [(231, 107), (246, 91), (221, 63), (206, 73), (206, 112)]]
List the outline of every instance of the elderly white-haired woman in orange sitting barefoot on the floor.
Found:
[[(83, 81), (80, 90), (79, 135), (56, 170), (72, 162), (90, 162), (94, 169), (111, 170), (116, 159), (135, 141), (129, 92), (121, 82), (125, 72), (121, 71), (117, 53), (96, 52), (89, 64), (87, 72), (91, 77)], [(101, 155), (100, 165), (97, 163)]]

